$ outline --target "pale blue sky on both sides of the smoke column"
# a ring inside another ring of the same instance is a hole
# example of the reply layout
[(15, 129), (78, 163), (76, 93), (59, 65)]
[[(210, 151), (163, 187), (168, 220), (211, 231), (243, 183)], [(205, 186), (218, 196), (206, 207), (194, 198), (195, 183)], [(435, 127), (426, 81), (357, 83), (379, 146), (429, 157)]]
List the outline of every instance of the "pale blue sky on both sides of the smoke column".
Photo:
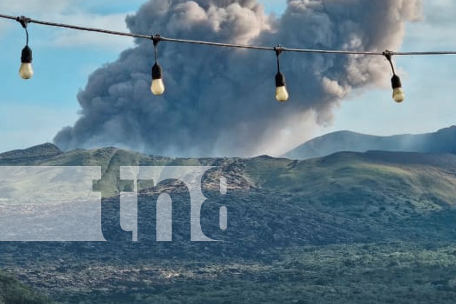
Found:
[[(127, 31), (124, 17), (143, 0), (16, 0), (0, 4), (0, 13), (35, 19)], [(260, 0), (265, 10), (280, 14), (285, 0)], [(401, 51), (456, 50), (456, 3), (424, 0), (423, 20), (408, 24)], [(0, 151), (50, 142), (78, 118), (76, 94), (89, 74), (114, 61), (133, 45), (130, 38), (31, 24), (30, 46), (35, 75), (18, 76), (25, 33), (15, 21), (0, 21)], [(399, 50), (397, 50), (399, 51)], [(456, 56), (395, 57), (406, 100), (391, 98), (389, 79), (384, 89), (357, 92), (334, 111), (331, 125), (314, 128), (309, 136), (341, 129), (389, 135), (423, 133), (456, 124), (454, 88)], [(385, 62), (385, 69), (389, 69)]]

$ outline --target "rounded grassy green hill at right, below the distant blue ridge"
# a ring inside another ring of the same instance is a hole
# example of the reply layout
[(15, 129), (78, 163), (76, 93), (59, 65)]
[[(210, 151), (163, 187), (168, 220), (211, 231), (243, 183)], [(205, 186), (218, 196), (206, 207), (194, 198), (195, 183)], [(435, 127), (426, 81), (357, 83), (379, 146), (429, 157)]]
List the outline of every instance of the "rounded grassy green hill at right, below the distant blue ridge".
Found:
[[(246, 162), (254, 184), (306, 197), (327, 211), (441, 211), (456, 204), (456, 155), (373, 151), (305, 161)], [(368, 214), (363, 214), (368, 215)]]

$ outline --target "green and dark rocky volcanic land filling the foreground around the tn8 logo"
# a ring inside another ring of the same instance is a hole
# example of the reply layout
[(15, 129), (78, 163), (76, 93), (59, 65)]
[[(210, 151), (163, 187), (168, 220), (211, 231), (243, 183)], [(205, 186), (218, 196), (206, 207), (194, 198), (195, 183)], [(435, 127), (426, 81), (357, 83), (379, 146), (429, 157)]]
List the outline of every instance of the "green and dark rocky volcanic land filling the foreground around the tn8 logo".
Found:
[[(98, 186), (111, 206), (124, 187), (119, 166), (218, 166), (203, 176), (209, 207), (201, 224), (224, 242), (189, 241), (187, 196), (169, 184), (140, 192), (139, 242), (114, 233), (111, 208), (109, 242), (0, 247), (0, 267), (62, 303), (456, 301), (456, 155), (344, 152), (300, 161), (38, 150), (0, 155), (0, 165), (101, 166)], [(223, 196), (221, 176), (228, 181)], [(173, 242), (155, 242), (155, 202), (169, 190)], [(219, 206), (228, 209), (225, 231)]]

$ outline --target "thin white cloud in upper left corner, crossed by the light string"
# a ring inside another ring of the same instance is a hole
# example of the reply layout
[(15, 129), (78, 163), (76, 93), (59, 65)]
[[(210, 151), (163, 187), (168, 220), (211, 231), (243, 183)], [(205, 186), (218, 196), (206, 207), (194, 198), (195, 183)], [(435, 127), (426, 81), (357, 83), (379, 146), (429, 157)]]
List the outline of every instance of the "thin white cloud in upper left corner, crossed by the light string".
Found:
[[(139, 4), (138, 1), (133, 1), (130, 10), (124, 8), (124, 11), (113, 13), (114, 8), (116, 8), (115, 10), (122, 10), (118, 8), (119, 5), (128, 6), (120, 0), (109, 3), (102, 1), (101, 4), (98, 1), (96, 6), (88, 0), (16, 0), (0, 3), (0, 11), (12, 16), (26, 15), (37, 20), (128, 32), (125, 17), (132, 13)], [(5, 36), (14, 26), (18, 26), (14, 23), (15, 21), (10, 20), (0, 22), (0, 38)], [(42, 26), (34, 25), (34, 27)], [(37, 33), (43, 33), (45, 36), (37, 36)], [(34, 35), (35, 41), (46, 41), (47, 44), (57, 47), (93, 46), (121, 51), (133, 44), (133, 40), (128, 37), (50, 27), (46, 31), (36, 31)]]

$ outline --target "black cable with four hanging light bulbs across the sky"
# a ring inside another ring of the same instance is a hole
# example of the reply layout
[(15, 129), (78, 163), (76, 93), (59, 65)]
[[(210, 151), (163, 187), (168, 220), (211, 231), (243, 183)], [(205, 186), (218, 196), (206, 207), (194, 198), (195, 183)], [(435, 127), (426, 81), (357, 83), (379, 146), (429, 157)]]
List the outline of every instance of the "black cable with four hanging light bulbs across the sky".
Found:
[(274, 51), (277, 56), (277, 67), (278, 72), (275, 76), (275, 84), (276, 84), (276, 99), (280, 102), (283, 102), (288, 99), (288, 92), (285, 87), (285, 77), (280, 72), (280, 65), (279, 65), (279, 55), (282, 52), (299, 52), (299, 53), (321, 53), (321, 54), (344, 54), (344, 55), (368, 55), (368, 56), (384, 56), (389, 61), (391, 68), (393, 70), (393, 77), (391, 78), (391, 85), (393, 88), (393, 98), (396, 102), (400, 103), (404, 100), (404, 91), (402, 90), (402, 84), (398, 75), (396, 75), (394, 71), (394, 66), (392, 62), (392, 56), (394, 55), (449, 55), (449, 54), (456, 54), (456, 51), (431, 51), (431, 52), (392, 52), (392, 51), (384, 51), (384, 52), (370, 52), (370, 51), (348, 51), (348, 50), (319, 50), (319, 49), (300, 49), (300, 48), (286, 48), (283, 46), (253, 46), (253, 45), (243, 45), (243, 44), (233, 44), (233, 43), (221, 43), (221, 42), (212, 42), (212, 41), (198, 41), (198, 40), (188, 40), (188, 39), (177, 39), (177, 38), (169, 38), (163, 37), (160, 35), (140, 35), (140, 34), (133, 34), (133, 33), (126, 33), (126, 32), (119, 32), (119, 31), (110, 31), (86, 26), (74, 26), (69, 24), (63, 23), (55, 23), (49, 21), (39, 21), (34, 20), (31, 18), (27, 18), (25, 16), (15, 17), (10, 15), (3, 15), (0, 14), (0, 18), (3, 19), (10, 19), (15, 20), (21, 23), (22, 27), (26, 31), (27, 35), (27, 42), (26, 46), (22, 49), (22, 56), (21, 56), (21, 68), (20, 68), (20, 75), (24, 79), (29, 79), (33, 76), (33, 69), (31, 67), (32, 61), (32, 53), (31, 49), (28, 46), (28, 31), (27, 31), (27, 24), (29, 23), (36, 23), (45, 26), (54, 26), (54, 27), (62, 27), (62, 28), (69, 28), (79, 31), (91, 31), (91, 32), (98, 32), (103, 34), (109, 35), (117, 35), (117, 36), (127, 36), (133, 38), (141, 38), (141, 39), (150, 39), (154, 42), (154, 50), (155, 50), (155, 64), (152, 67), (152, 83), (151, 83), (151, 91), (156, 95), (160, 95), (165, 92), (165, 86), (163, 84), (162, 78), (162, 71), (161, 67), (157, 61), (157, 44), (159, 41), (170, 41), (170, 42), (177, 42), (177, 43), (189, 43), (189, 44), (199, 44), (199, 45), (206, 45), (206, 46), (219, 46), (219, 47), (231, 47), (231, 48), (244, 48), (244, 49), (252, 49), (252, 50), (261, 50), (261, 51)]

